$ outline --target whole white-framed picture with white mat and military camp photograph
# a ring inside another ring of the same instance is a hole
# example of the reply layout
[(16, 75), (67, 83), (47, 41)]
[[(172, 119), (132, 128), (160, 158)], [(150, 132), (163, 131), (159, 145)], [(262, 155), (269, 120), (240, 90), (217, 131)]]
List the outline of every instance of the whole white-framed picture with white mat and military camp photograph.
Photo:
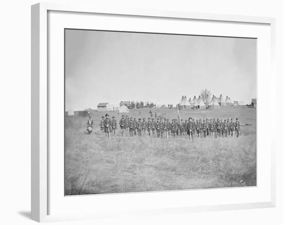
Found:
[(275, 207), (275, 19), (31, 7), (36, 221)]

